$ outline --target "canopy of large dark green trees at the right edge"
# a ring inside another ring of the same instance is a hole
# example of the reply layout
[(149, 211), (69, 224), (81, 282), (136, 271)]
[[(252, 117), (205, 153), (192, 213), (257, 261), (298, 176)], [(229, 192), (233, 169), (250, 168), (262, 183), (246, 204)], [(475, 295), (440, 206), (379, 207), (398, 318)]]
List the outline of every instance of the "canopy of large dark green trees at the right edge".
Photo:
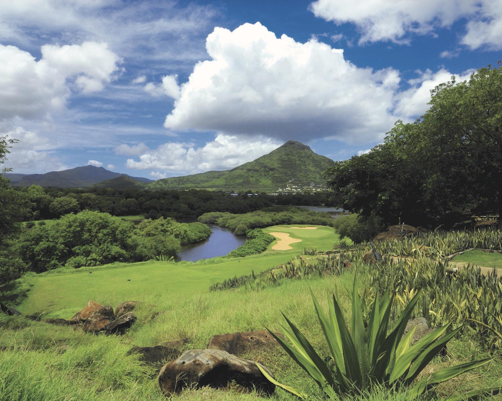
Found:
[(502, 209), (502, 69), (474, 72), (431, 91), (414, 123), (396, 122), (384, 143), (327, 171), (339, 206), (387, 224), (451, 225)]

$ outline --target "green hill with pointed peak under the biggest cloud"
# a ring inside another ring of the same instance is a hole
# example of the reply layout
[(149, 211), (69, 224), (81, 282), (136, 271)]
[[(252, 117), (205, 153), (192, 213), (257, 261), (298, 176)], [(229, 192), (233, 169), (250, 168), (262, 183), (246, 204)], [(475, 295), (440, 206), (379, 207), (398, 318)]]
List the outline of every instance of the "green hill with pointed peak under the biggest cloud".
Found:
[(322, 173), (333, 160), (314, 153), (309, 146), (288, 141), (256, 160), (231, 170), (207, 171), (199, 174), (159, 179), (148, 186), (155, 189), (273, 189), (295, 184), (325, 183)]

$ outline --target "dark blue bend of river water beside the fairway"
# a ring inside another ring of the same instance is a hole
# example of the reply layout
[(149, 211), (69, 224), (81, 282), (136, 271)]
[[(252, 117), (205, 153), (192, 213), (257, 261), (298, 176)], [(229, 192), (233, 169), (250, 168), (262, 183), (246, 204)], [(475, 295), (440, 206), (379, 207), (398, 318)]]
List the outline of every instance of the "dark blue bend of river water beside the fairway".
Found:
[(213, 231), (210, 237), (197, 244), (182, 247), (181, 252), (178, 254), (179, 260), (195, 262), (199, 259), (225, 256), (230, 251), (244, 244), (246, 240), (244, 235), (235, 235), (230, 229), (225, 227), (219, 227), (214, 224), (208, 224), (208, 226)]

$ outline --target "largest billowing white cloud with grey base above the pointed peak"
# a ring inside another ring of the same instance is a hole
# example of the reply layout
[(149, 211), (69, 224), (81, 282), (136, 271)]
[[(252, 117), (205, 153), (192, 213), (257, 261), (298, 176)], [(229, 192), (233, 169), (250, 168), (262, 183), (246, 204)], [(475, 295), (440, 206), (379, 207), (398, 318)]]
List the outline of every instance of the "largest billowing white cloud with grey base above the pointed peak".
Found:
[(398, 72), (358, 68), (315, 39), (299, 43), (244, 24), (215, 28), (206, 49), (210, 60), (181, 85), (166, 128), (358, 142), (380, 137), (395, 120)]

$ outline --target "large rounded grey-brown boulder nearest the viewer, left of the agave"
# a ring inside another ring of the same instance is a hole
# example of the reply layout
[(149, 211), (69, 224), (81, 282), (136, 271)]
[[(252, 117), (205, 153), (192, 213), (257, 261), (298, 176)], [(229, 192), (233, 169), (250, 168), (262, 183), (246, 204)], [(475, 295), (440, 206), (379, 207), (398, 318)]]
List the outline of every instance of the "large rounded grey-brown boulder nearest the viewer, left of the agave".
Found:
[[(272, 377), (272, 372), (260, 365)], [(241, 390), (257, 389), (272, 394), (275, 385), (262, 374), (255, 362), (238, 358), (219, 349), (193, 349), (164, 365), (159, 385), (165, 396), (186, 387), (226, 387), (235, 382)]]

